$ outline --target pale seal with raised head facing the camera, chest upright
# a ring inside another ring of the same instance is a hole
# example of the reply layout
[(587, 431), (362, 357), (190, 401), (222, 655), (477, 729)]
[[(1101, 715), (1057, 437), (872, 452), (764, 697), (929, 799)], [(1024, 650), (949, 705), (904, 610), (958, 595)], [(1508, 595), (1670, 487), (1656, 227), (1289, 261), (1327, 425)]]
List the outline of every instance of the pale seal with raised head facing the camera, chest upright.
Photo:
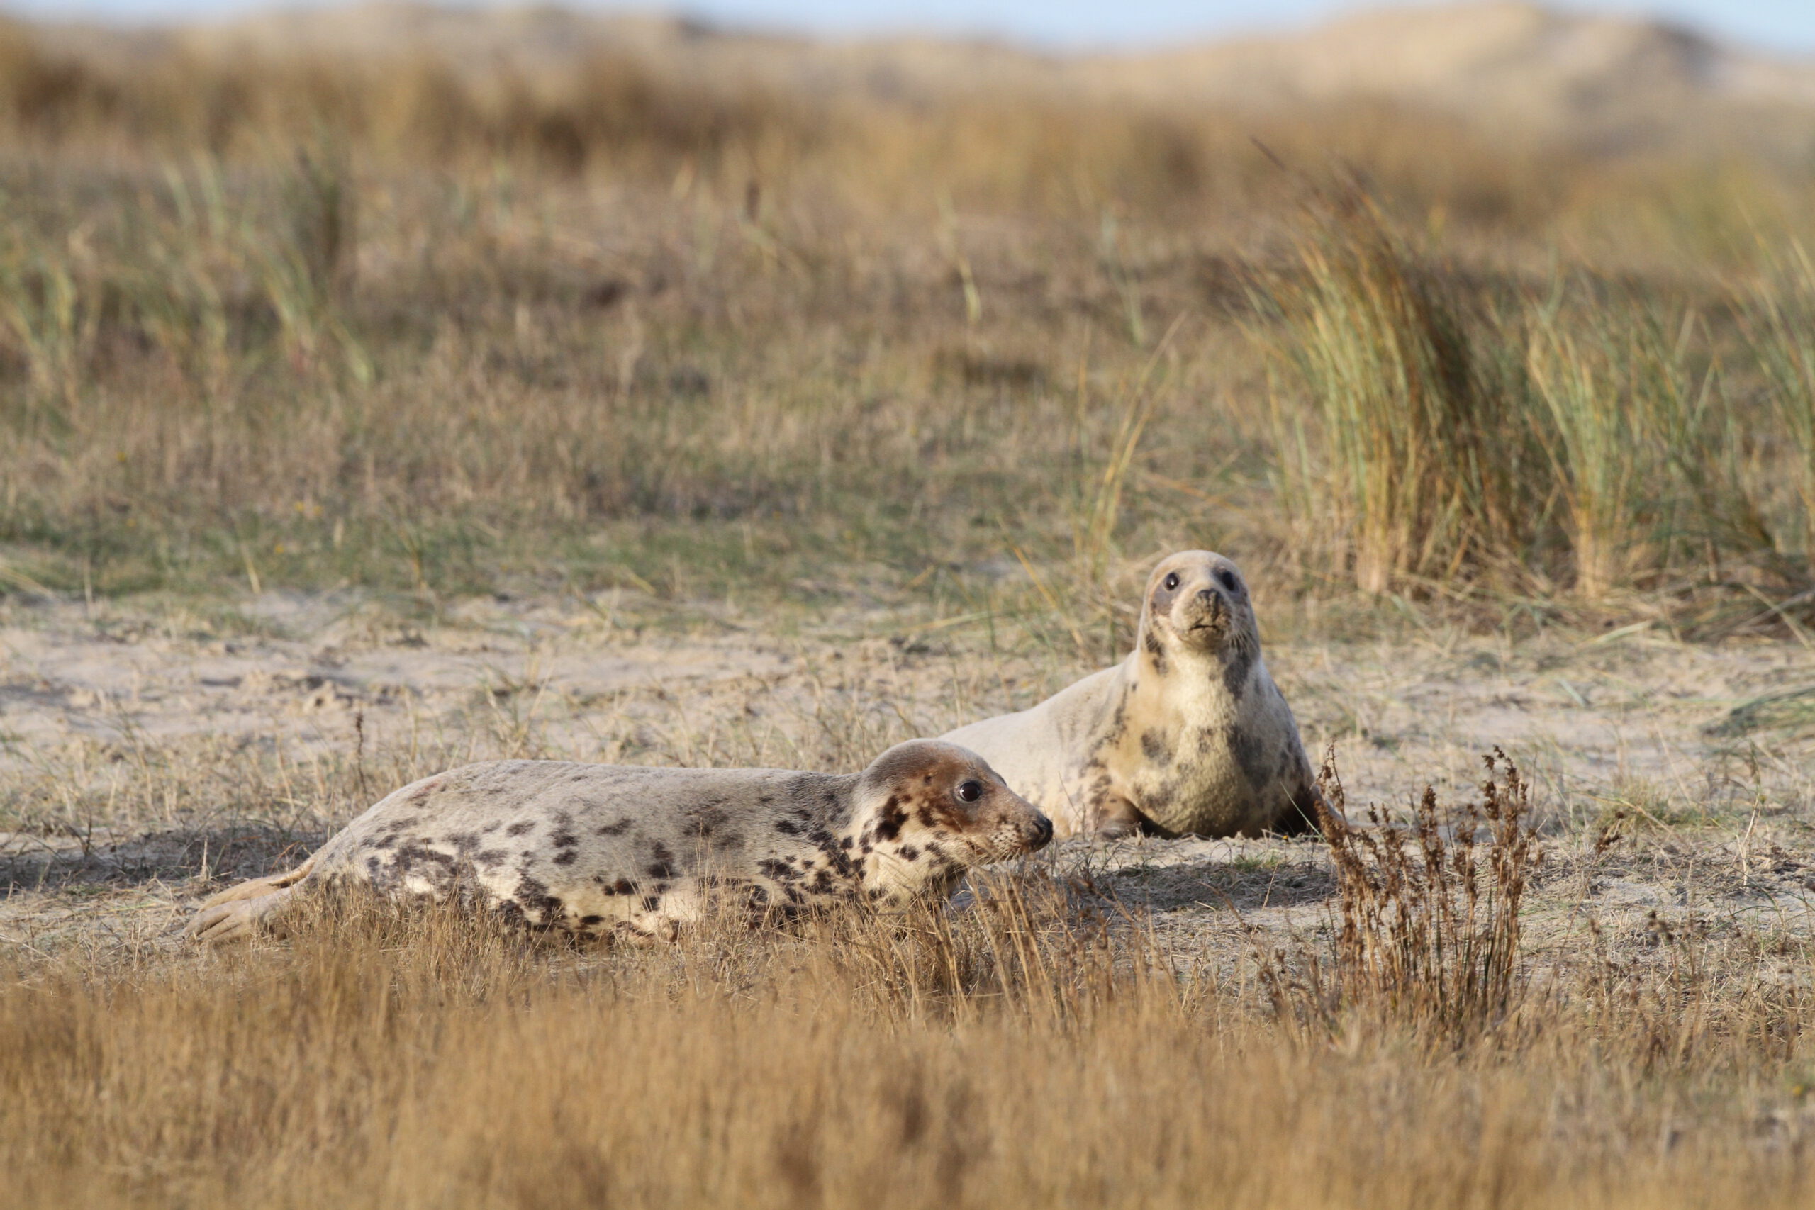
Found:
[(989, 760), (1060, 836), (1258, 836), (1318, 818), (1310, 760), (1260, 657), (1247, 584), (1207, 550), (1153, 570), (1125, 660), (942, 738)]

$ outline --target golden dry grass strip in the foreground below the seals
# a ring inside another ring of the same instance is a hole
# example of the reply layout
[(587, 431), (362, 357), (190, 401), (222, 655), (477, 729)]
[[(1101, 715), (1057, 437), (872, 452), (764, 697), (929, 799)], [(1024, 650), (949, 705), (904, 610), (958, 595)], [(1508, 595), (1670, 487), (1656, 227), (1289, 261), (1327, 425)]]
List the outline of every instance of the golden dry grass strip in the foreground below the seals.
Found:
[(45, 1206), (1810, 1194), (1800, 1001), (1764, 963), (1672, 938), (1434, 1054), (1410, 996), (1307, 1039), (1078, 896), (1025, 874), (951, 918), (604, 954), (330, 905), (289, 949), (15, 958), (0, 1161)]

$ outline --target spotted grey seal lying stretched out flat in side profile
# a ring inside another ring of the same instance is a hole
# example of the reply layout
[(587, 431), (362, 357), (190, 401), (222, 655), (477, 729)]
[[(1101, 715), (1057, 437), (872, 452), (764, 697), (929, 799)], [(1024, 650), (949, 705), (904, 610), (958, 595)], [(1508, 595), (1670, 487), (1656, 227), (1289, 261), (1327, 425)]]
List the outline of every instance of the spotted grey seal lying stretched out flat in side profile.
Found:
[(296, 894), (358, 883), (530, 929), (672, 938), (715, 896), (760, 914), (949, 894), (1051, 836), (980, 756), (937, 740), (849, 775), (499, 760), (388, 795), (299, 869), (203, 903), (191, 934), (241, 936)]

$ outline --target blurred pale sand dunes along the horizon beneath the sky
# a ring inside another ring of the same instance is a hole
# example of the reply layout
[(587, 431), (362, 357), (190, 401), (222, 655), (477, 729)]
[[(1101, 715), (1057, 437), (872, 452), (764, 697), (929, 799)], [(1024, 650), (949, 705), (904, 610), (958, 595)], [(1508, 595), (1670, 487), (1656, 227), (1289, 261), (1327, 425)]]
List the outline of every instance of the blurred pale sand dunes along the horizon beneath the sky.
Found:
[(116, 60), (169, 49), (336, 60), (421, 54), (461, 73), (508, 71), (548, 87), (597, 71), (601, 56), (633, 56), (693, 78), (884, 105), (949, 100), (967, 89), (1243, 112), (1369, 102), (1439, 112), (1496, 136), (1612, 152), (1742, 145), (1802, 154), (1815, 120), (1815, 60), (1526, 0), (1387, 7), (1305, 31), (1138, 54), (1040, 54), (940, 38), (811, 40), (677, 16), (396, 2), (272, 9), (151, 31), (44, 25), (36, 36), (67, 54)]

